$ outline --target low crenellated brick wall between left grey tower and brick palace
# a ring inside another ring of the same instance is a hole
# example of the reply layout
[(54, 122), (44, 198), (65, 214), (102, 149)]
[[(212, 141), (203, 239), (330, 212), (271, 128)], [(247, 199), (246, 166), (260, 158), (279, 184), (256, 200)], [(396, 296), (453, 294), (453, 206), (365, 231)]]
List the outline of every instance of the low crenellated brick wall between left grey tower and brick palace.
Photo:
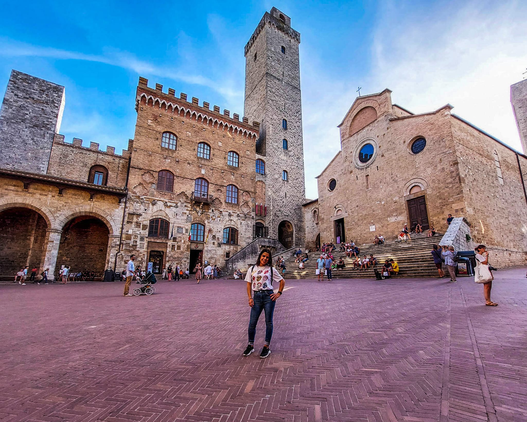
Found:
[(87, 182), (90, 169), (97, 165), (108, 170), (106, 185), (125, 187), (132, 145), (130, 140), (128, 150), (117, 155), (114, 147), (106, 147), (106, 151), (100, 151), (98, 143), (90, 142), (90, 148), (85, 148), (82, 146), (82, 139), (75, 138), (73, 143), (68, 143), (64, 142), (63, 135), (55, 135), (47, 174), (60, 177), (67, 175), (69, 179)]

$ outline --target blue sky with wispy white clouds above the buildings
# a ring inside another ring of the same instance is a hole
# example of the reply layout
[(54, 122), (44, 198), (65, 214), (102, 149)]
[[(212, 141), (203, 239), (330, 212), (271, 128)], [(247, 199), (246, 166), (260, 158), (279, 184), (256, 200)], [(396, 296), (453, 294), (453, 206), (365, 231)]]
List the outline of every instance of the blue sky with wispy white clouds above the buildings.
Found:
[(306, 196), (340, 148), (356, 89), (453, 112), (521, 150), (509, 87), (527, 68), (527, 2), (2, 2), (0, 91), (11, 69), (66, 87), (61, 133), (126, 148), (139, 75), (243, 113), (243, 47), (272, 6), (301, 34)]

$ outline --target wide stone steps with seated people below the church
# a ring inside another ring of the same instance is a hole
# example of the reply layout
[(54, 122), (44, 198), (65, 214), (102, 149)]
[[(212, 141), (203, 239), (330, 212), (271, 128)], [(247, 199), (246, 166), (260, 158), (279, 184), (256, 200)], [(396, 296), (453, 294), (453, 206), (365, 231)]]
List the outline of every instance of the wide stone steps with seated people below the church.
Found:
[[(384, 245), (357, 245), (360, 249), (360, 257), (373, 254), (377, 258), (378, 264), (375, 266), (380, 272), (385, 260), (392, 258), (399, 264), (399, 274), (397, 277), (434, 277), (437, 276), (437, 268), (432, 260), (432, 245), (439, 243), (442, 234), (436, 233), (435, 236), (427, 237), (426, 233), (411, 234), (412, 241), (398, 242), (396, 240), (386, 241)], [(355, 258), (348, 258), (344, 252), (333, 251), (336, 261), (343, 258), (346, 267), (343, 270), (333, 270), (334, 279), (354, 279), (368, 278), (375, 279), (374, 268), (360, 271), (354, 268), (352, 262)], [(286, 279), (314, 279), (316, 278), (316, 261), (320, 256), (319, 252), (308, 252), (309, 259), (304, 263), (304, 270), (299, 270), (295, 264), (295, 257), (290, 254), (280, 254), (285, 257)]]

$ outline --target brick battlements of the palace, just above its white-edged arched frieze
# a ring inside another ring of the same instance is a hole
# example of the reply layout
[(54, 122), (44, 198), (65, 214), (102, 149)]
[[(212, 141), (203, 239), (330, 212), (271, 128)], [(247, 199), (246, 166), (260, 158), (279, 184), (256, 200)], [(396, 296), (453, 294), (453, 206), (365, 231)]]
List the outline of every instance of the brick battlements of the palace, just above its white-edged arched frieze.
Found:
[[(155, 93), (155, 97), (154, 95), (148, 95), (151, 93)], [(160, 83), (156, 83), (155, 88), (150, 88), (148, 86), (148, 79), (140, 76), (138, 84), (138, 103), (141, 101), (141, 97), (143, 96), (147, 98), (147, 102), (149, 97), (152, 97), (152, 103), (159, 101), (160, 107), (164, 102), (167, 110), (170, 104), (172, 104), (172, 110), (174, 109), (174, 106), (177, 107), (177, 105), (180, 104), (186, 109), (193, 109), (193, 111), (200, 113), (203, 117), (218, 116), (216, 119), (226, 121), (227, 124), (231, 123), (239, 128), (245, 128), (249, 131), (255, 132), (256, 135), (258, 135), (260, 129), (259, 122), (253, 121), (251, 124), (249, 123), (249, 119), (245, 116), (243, 116), (242, 120), (240, 121), (240, 115), (237, 113), (233, 113), (232, 117), (230, 116), (230, 111), (227, 109), (223, 109), (223, 113), (220, 113), (220, 107), (218, 105), (214, 105), (213, 109), (211, 110), (210, 103), (203, 101), (202, 105), (200, 106), (198, 98), (192, 97), (191, 101), (188, 101), (187, 94), (183, 92), (180, 93), (178, 98), (175, 96), (175, 90), (173, 88), (169, 88), (168, 93), (165, 93), (163, 92), (163, 85)]]

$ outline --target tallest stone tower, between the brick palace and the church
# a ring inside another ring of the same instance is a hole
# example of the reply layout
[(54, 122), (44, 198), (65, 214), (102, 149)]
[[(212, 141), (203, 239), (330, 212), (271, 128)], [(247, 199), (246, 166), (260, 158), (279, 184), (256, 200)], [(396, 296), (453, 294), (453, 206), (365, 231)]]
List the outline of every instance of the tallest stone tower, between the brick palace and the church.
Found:
[(267, 215), (257, 207), (257, 218), (285, 247), (305, 243), (299, 44), (291, 19), (273, 7), (245, 46), (245, 116), (260, 122), (256, 158), (265, 162), (257, 180), (265, 184)]

